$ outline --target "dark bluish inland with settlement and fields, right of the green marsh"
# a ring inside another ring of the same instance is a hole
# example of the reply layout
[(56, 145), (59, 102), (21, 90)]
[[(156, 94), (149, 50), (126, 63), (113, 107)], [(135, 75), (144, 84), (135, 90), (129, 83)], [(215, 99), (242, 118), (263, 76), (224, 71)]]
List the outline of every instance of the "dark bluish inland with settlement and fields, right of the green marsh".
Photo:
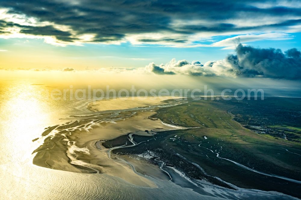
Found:
[(300, 98), (268, 97), (262, 100), (231, 100), (220, 102), (234, 106), (234, 120), (257, 132), (274, 138), (301, 143)]

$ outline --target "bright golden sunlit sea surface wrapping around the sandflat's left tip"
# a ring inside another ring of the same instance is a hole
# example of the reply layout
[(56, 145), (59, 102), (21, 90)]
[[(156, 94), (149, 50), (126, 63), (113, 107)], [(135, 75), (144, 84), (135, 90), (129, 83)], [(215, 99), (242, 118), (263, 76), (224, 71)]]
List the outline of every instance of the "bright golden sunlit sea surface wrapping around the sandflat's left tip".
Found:
[[(35, 84), (35, 85), (33, 85)], [(88, 114), (84, 102), (51, 100), (50, 87), (34, 81), (0, 85), (0, 199), (179, 199), (200, 198), (191, 189), (156, 182), (144, 188), (106, 174), (79, 174), (32, 164), (43, 130), (70, 115)], [(155, 180), (154, 180), (155, 181)]]

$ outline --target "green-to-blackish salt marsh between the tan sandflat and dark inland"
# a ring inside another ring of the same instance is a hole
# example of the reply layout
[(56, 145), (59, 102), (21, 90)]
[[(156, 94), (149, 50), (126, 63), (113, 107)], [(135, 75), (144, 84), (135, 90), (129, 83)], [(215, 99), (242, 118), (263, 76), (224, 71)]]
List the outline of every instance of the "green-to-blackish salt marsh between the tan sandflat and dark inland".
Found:
[[(277, 100), (273, 99), (273, 102)], [(252, 103), (256, 105), (255, 102)], [(272, 106), (275, 107), (276, 105)], [(222, 158), (263, 173), (301, 180), (301, 144), (282, 138), (275, 139), (268, 134), (257, 134), (244, 128), (228, 112), (232, 110), (235, 113), (233, 108), (237, 108), (237, 105), (204, 100), (161, 108), (152, 117), (169, 124), (193, 128), (163, 131), (153, 136), (156, 140), (113, 152), (139, 154), (148, 150), (155, 152), (166, 165), (173, 166), (194, 179), (225, 186), (214, 178), (219, 177), (239, 187), (278, 191), (300, 198), (299, 183), (265, 176), (216, 156), (219, 153)], [(269, 115), (271, 114), (272, 112)], [(275, 122), (279, 118), (276, 116), (273, 120)], [(146, 138), (135, 136), (134, 140), (140, 142)], [(153, 162), (156, 164), (155, 160)]]

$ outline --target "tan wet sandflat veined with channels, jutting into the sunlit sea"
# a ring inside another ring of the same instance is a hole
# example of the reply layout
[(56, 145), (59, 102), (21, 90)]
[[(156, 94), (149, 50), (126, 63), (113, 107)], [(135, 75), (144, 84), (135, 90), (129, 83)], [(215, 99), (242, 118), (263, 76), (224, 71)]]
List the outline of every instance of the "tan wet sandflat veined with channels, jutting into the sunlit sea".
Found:
[(48, 127), (43, 133), (44, 144), (33, 152), (36, 153), (33, 164), (78, 173), (105, 173), (138, 186), (156, 187), (141, 174), (166, 180), (158, 166), (142, 159), (124, 157), (137, 168), (139, 175), (126, 162), (115, 156), (109, 158), (108, 149), (101, 142), (129, 133), (151, 136), (144, 130), (172, 128), (161, 120), (149, 118), (154, 113), (147, 110), (124, 111), (113, 117), (108, 113)]

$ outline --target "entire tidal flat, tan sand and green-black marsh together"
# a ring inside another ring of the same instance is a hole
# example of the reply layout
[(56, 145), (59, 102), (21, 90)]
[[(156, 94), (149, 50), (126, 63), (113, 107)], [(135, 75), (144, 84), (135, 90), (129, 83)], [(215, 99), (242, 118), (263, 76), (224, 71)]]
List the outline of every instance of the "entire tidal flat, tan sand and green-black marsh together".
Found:
[[(106, 173), (144, 187), (156, 187), (152, 177), (215, 197), (231, 193), (228, 198), (234, 198), (240, 192), (244, 197), (300, 198), (300, 143), (246, 129), (233, 120), (229, 111), (234, 106), (225, 102), (164, 104), (97, 113), (48, 127), (33, 162)], [(219, 195), (208, 192), (212, 187)], [(276, 193), (255, 194), (257, 190)]]

